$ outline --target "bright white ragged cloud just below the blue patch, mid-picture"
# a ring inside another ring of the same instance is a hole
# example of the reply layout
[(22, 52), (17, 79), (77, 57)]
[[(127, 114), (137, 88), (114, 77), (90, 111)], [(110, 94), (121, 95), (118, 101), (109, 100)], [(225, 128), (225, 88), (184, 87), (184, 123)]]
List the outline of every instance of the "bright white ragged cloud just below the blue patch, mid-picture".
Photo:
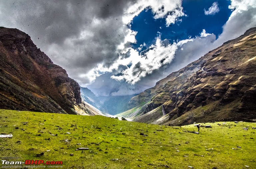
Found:
[(132, 66), (122, 71), (120, 76), (111, 76), (112, 79), (119, 81), (125, 80), (130, 84), (135, 84), (142, 77), (151, 74), (154, 70), (166, 65), (174, 58), (177, 44), (164, 45), (161, 37), (157, 37), (156, 43), (149, 47), (143, 55), (139, 55), (137, 50), (129, 48), (130, 57), (127, 63), (132, 62)]

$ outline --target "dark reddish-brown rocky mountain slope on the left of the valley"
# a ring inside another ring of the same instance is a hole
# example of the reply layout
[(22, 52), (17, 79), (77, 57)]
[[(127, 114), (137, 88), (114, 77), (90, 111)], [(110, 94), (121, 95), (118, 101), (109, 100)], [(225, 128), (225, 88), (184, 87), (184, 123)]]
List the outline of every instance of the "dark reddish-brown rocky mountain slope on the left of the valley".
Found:
[[(0, 109), (93, 115), (78, 83), (18, 29), (0, 27)], [(97, 113), (96, 113), (97, 114)]]

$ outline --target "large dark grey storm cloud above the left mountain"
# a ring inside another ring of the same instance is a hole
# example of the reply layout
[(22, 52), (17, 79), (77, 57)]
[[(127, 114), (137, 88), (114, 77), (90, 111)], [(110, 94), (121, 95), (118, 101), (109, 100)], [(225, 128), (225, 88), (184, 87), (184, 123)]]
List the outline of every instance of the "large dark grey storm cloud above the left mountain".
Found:
[(0, 2), (0, 24), (29, 34), (54, 63), (85, 84), (90, 79), (78, 74), (101, 62), (109, 67), (118, 58), (127, 29), (122, 15), (130, 2), (6, 0)]

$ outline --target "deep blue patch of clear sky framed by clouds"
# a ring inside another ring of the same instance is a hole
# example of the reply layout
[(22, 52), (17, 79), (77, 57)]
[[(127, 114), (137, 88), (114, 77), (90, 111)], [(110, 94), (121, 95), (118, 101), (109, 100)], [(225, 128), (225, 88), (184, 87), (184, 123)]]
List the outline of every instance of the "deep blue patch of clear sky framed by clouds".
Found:
[[(203, 29), (207, 33), (217, 36), (222, 33), (222, 26), (227, 22), (232, 11), (228, 8), (229, 0), (217, 1), (220, 11), (214, 15), (205, 15), (204, 9), (208, 9), (216, 2), (213, 0), (185, 0), (182, 1), (184, 13), (175, 24), (166, 27), (165, 19), (154, 19), (152, 10), (145, 9), (138, 16), (134, 17), (131, 23), (131, 30), (138, 32), (136, 37), (137, 43), (133, 43), (134, 48), (140, 44), (146, 43), (150, 46), (155, 42), (155, 37), (161, 33), (162, 39), (168, 39), (171, 42), (188, 39), (189, 37), (200, 36)], [(142, 50), (146, 49), (143, 47)]]

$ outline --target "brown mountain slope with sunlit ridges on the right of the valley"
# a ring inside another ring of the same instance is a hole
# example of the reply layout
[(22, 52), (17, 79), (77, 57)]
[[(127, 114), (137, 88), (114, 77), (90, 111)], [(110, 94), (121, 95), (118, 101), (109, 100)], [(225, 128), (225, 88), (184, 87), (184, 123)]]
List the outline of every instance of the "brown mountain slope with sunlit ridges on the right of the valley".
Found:
[(119, 115), (144, 123), (256, 121), (256, 28), (158, 81), (130, 108)]

